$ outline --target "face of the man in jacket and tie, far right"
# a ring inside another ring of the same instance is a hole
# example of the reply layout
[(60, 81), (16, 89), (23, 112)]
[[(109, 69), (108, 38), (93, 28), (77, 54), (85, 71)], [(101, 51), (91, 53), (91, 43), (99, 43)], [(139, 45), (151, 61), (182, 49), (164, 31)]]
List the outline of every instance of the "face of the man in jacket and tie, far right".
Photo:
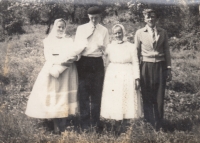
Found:
[(156, 25), (156, 14), (154, 12), (146, 13), (144, 15), (144, 21), (147, 23), (147, 25), (151, 28), (153, 28)]

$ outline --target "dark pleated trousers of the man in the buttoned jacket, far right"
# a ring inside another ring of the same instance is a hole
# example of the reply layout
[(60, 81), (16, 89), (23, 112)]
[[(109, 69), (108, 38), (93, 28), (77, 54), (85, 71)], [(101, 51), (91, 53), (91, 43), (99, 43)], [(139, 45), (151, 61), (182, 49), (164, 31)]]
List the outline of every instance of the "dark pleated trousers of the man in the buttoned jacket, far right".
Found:
[(140, 72), (144, 118), (153, 127), (159, 129), (162, 125), (164, 112), (165, 62), (142, 62)]

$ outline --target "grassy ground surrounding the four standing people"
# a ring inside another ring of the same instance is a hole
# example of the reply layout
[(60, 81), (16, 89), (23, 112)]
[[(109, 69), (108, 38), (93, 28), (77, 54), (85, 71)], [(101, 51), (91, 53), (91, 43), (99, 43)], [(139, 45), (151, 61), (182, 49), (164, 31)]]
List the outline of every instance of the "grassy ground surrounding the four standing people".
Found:
[[(139, 27), (124, 24), (128, 33)], [(109, 29), (112, 24), (106, 25)], [(75, 34), (76, 25), (68, 25)], [(143, 119), (132, 121), (120, 135), (91, 128), (78, 132), (77, 117), (69, 117), (62, 135), (52, 133), (52, 121), (29, 118), (24, 114), (28, 96), (43, 66), (42, 39), (46, 27), (25, 26), (26, 34), (13, 35), (0, 43), (0, 143), (29, 142), (199, 142), (200, 141), (200, 52), (195, 49), (173, 49), (181, 39), (170, 40), (173, 81), (167, 84), (165, 124), (156, 132)], [(108, 127), (109, 121), (103, 121)]]

